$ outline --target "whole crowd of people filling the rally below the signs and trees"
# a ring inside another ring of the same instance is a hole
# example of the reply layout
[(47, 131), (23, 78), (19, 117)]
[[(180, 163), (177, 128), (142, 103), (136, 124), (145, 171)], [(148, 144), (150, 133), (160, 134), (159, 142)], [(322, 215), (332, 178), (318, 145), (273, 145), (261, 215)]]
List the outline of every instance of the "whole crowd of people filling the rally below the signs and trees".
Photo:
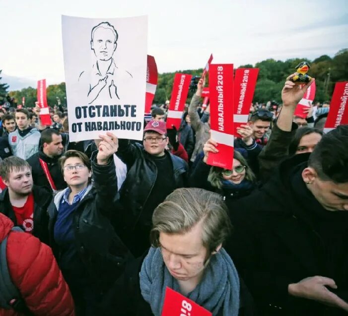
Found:
[[(348, 313), (348, 126), (329, 103), (252, 104), (232, 170), (207, 164), (201, 78), (180, 128), (69, 141), (66, 109), (0, 110), (0, 316), (162, 314), (169, 287), (213, 316)], [(178, 314), (179, 315), (179, 314)]]

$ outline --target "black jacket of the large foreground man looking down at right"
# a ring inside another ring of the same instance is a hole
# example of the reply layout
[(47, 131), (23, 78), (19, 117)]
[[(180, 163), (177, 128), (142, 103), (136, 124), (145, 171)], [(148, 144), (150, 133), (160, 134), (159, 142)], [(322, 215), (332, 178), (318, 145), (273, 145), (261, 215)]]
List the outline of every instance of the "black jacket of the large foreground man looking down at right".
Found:
[(346, 315), (288, 294), (288, 284), (320, 275), (333, 278), (348, 301), (348, 214), (325, 210), (306, 188), (301, 173), (308, 157), (285, 160), (261, 190), (227, 201), (234, 233), (225, 248), (260, 315)]

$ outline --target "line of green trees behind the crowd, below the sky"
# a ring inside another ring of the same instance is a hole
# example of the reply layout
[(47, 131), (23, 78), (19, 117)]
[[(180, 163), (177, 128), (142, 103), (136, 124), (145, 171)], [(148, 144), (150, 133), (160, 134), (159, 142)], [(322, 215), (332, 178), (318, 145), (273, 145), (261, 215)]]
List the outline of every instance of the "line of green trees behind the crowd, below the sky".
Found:
[[(333, 58), (328, 55), (322, 55), (313, 61), (306, 58), (288, 59), (286, 61), (267, 59), (255, 65), (241, 65), (239, 68), (255, 67), (260, 69), (253, 102), (266, 103), (270, 100), (280, 102), (280, 91), (286, 77), (293, 73), (295, 66), (302, 61), (308, 62), (311, 66), (308, 74), (315, 77), (316, 80), (315, 101), (317, 102), (330, 101), (335, 83), (348, 80), (348, 49), (340, 50)], [(179, 70), (176, 72), (200, 76), (203, 68)], [(162, 104), (166, 100), (170, 100), (174, 75), (175, 72), (165, 72), (158, 75), (157, 89), (153, 100), (155, 104)], [(187, 102), (191, 101), (194, 93), (194, 89), (189, 91)], [(25, 97), (25, 106), (33, 107), (37, 99), (36, 95), (36, 88), (32, 87), (8, 92), (8, 85), (0, 81), (0, 104), (8, 101), (11, 103), (11, 106), (16, 106), (21, 104), (22, 97)], [(47, 87), (47, 102), (52, 107), (59, 104), (66, 106), (65, 82)]]

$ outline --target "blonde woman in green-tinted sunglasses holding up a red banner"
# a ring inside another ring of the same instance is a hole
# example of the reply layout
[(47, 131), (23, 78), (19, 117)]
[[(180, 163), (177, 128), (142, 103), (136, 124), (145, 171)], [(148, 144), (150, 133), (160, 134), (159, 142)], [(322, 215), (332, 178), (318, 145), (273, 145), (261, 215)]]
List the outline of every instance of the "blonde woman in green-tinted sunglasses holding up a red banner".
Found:
[(204, 157), (192, 171), (190, 186), (215, 191), (223, 195), (224, 199), (249, 195), (256, 187), (256, 177), (238, 149), (234, 150), (232, 170), (207, 165), (209, 152), (217, 152), (216, 146), (217, 143), (212, 139), (205, 143)]

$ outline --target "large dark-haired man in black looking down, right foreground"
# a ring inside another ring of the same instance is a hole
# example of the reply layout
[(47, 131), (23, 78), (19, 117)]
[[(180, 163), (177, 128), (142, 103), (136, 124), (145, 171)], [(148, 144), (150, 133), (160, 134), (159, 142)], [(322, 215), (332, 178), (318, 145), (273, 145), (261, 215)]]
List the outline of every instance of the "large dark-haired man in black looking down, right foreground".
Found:
[(339, 126), (229, 203), (235, 231), (226, 250), (261, 315), (348, 312), (347, 146), (348, 126)]

